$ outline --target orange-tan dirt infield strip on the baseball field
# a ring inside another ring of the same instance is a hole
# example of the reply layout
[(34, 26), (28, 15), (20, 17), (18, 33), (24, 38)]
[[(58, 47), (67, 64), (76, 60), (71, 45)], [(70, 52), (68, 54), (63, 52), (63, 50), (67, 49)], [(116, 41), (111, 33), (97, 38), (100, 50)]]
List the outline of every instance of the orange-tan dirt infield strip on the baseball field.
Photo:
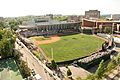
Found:
[(56, 41), (59, 41), (59, 40), (60, 40), (60, 37), (59, 37), (59, 36), (51, 36), (51, 37), (50, 37), (50, 40), (38, 41), (38, 40), (33, 39), (33, 42), (34, 42), (36, 45), (39, 45), (39, 44), (53, 43), (53, 42), (56, 42)]

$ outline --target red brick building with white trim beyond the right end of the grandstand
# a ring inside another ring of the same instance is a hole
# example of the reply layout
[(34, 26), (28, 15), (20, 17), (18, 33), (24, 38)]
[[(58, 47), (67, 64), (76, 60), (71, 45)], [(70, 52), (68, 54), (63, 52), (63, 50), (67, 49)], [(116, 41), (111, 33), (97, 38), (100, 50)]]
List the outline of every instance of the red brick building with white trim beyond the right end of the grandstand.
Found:
[(100, 30), (101, 32), (105, 31), (106, 27), (113, 28), (113, 31), (120, 30), (118, 29), (120, 25), (120, 21), (97, 21), (97, 20), (88, 20), (88, 19), (83, 19), (82, 22), (82, 28), (91, 28), (91, 30)]

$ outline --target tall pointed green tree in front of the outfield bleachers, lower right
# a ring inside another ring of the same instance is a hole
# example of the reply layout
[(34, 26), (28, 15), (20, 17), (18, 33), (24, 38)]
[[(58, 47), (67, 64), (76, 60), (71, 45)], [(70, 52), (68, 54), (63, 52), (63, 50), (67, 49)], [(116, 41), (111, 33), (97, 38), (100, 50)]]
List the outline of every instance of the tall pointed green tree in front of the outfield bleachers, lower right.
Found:
[(98, 79), (102, 78), (105, 72), (104, 60), (102, 60), (99, 64), (98, 69), (95, 72), (95, 77)]

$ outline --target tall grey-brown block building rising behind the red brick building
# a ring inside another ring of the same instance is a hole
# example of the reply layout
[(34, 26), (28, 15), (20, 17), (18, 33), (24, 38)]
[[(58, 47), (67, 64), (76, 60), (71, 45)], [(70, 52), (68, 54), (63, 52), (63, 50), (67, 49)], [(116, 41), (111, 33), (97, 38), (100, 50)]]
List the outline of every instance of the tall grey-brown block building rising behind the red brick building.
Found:
[(100, 18), (100, 11), (98, 11), (98, 10), (85, 11), (85, 18), (87, 18), (87, 19), (99, 19)]

